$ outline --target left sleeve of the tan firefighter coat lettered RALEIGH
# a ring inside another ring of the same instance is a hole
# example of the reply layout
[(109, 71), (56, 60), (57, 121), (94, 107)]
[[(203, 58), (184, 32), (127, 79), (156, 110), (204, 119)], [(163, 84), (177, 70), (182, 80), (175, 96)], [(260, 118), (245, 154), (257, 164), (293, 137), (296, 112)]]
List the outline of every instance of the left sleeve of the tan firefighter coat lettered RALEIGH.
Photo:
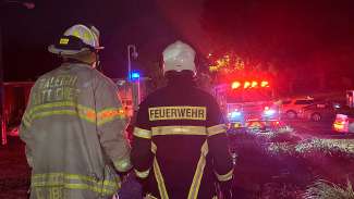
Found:
[(33, 150), (34, 150), (34, 136), (30, 129), (30, 110), (33, 108), (34, 100), (34, 87), (30, 89), (30, 95), (28, 98), (26, 110), (22, 116), (20, 125), (20, 138), (26, 144), (25, 153), (27, 163), (30, 167), (34, 165), (33, 161)]

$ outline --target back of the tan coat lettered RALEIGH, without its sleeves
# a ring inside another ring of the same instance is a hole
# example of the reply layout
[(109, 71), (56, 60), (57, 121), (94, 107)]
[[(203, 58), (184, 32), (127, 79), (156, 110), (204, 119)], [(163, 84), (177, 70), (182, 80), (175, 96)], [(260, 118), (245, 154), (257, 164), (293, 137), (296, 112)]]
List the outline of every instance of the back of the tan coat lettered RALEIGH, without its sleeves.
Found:
[[(51, 191), (66, 198), (96, 198), (107, 188), (99, 183), (109, 181), (113, 170), (98, 139), (95, 110), (95, 87), (107, 80), (85, 64), (63, 64), (36, 82), (24, 116), (33, 141), (32, 186), (37, 187), (33, 197), (46, 198)], [(68, 190), (38, 188), (50, 184)], [(107, 191), (114, 192), (118, 185), (114, 181), (111, 185)], [(93, 191), (80, 191), (87, 188)]]

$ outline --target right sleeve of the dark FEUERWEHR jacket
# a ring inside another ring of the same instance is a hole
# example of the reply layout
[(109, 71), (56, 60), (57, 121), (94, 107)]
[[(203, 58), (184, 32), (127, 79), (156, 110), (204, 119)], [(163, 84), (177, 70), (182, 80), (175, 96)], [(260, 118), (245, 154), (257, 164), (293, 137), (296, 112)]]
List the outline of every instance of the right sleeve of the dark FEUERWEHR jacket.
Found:
[(228, 148), (227, 126), (215, 100), (211, 100), (207, 115), (208, 145), (215, 174), (219, 182), (229, 182), (233, 176), (233, 164)]

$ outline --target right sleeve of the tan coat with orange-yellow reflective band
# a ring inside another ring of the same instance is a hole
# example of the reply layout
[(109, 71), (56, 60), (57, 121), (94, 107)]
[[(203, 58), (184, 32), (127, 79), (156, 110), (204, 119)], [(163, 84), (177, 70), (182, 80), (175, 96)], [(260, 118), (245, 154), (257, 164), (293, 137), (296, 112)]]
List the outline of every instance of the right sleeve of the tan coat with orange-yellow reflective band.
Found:
[(99, 141), (119, 172), (132, 167), (130, 146), (124, 136), (127, 125), (115, 85), (105, 77), (98, 79), (95, 91), (97, 129)]

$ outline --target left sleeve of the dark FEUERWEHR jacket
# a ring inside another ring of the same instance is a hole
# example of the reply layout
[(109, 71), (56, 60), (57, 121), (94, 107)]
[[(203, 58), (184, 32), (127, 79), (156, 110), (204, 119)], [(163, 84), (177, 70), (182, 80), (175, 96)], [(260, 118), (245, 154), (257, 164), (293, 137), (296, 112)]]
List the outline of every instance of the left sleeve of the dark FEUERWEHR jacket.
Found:
[(143, 102), (136, 115), (133, 133), (132, 162), (137, 177), (148, 177), (152, 164), (151, 126), (148, 117), (148, 105)]

